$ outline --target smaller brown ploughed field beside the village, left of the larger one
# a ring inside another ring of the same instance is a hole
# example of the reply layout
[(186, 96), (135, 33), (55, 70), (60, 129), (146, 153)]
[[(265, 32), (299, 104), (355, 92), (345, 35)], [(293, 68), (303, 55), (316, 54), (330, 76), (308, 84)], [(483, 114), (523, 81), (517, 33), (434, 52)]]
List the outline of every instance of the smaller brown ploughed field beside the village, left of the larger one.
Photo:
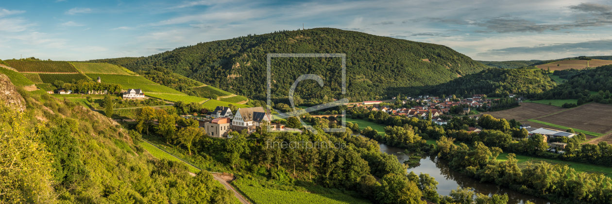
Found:
[(562, 110), (564, 110), (564, 108), (556, 107), (554, 105), (521, 103), (520, 107), (494, 112), (484, 112), (483, 114), (491, 115), (494, 118), (506, 118), (507, 120), (516, 119), (517, 121), (523, 121), (526, 119), (533, 119), (549, 115)]

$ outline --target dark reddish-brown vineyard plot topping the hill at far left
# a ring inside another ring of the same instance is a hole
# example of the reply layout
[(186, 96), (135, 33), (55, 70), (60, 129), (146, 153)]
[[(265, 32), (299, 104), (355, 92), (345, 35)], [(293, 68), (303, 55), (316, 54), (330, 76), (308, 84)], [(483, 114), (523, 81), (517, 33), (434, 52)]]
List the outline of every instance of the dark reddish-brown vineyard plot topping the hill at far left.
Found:
[(78, 73), (72, 64), (64, 61), (4, 61), (9, 67), (17, 69), (19, 72), (32, 73)]

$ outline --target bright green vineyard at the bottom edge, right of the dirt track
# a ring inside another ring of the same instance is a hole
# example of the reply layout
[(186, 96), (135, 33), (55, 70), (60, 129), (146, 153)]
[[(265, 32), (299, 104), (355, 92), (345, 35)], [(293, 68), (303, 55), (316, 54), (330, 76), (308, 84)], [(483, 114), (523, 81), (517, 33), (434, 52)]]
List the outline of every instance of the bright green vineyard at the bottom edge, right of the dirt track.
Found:
[(313, 194), (302, 191), (283, 191), (271, 189), (270, 185), (261, 186), (257, 181), (238, 179), (233, 182), (248, 198), (255, 203), (371, 203), (341, 192), (328, 191), (326, 194)]

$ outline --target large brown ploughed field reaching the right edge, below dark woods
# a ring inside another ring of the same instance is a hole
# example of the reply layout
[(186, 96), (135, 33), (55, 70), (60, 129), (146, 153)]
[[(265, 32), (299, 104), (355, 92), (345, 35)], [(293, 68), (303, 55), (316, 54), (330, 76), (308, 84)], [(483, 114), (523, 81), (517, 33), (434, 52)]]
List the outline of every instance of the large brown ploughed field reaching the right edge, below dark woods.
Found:
[(605, 134), (612, 131), (612, 105), (585, 104), (537, 120)]

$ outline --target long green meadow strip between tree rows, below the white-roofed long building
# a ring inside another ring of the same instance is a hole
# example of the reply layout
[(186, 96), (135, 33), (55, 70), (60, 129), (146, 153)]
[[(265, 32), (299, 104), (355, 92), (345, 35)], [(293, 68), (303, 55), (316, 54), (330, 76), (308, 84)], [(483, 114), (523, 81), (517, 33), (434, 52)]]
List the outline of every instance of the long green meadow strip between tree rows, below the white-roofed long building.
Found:
[[(508, 156), (509, 153), (501, 153), (498, 156), (498, 161), (506, 161), (506, 156)], [(548, 162), (550, 164), (565, 164), (568, 165), (570, 168), (574, 168), (576, 170), (576, 172), (588, 172), (588, 173), (602, 173), (610, 178), (612, 178), (612, 168), (610, 167), (604, 167), (604, 166), (600, 166), (600, 165), (592, 165), (592, 164), (584, 164), (584, 163), (578, 163), (578, 162), (570, 162), (570, 161), (560, 161), (560, 160), (553, 160), (553, 159), (542, 159), (539, 157), (531, 157), (531, 156), (523, 156), (520, 154), (517, 154), (517, 159), (518, 159), (518, 163), (519, 165), (521, 163), (524, 162), (540, 162), (540, 161), (544, 161), (544, 162)]]

